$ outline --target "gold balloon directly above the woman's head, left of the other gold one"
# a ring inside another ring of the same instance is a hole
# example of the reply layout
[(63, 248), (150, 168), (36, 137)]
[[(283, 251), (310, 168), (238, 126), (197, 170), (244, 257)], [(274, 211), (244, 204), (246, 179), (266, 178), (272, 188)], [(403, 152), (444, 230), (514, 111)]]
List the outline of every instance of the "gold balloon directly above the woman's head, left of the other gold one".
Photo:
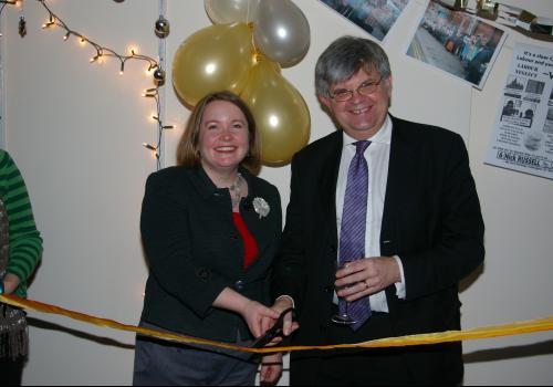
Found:
[(216, 24), (186, 39), (173, 60), (173, 85), (194, 106), (206, 94), (239, 94), (253, 65), (251, 29), (246, 23)]

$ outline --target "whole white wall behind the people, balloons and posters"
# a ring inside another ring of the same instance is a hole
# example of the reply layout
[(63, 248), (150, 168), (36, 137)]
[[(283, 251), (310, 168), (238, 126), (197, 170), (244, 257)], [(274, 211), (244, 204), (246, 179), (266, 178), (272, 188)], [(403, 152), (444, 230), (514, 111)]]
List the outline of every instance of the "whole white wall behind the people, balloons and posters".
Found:
[[(504, 0), (534, 13), (553, 17), (550, 0)], [(317, 0), (295, 0), (306, 14), (312, 45), (306, 57), (283, 75), (302, 93), (312, 115), (311, 139), (331, 133), (313, 93), (313, 67), (335, 38), (364, 34)], [(158, 1), (51, 0), (52, 10), (79, 32), (124, 52), (136, 44), (157, 54), (154, 21)], [(463, 283), (465, 327), (531, 320), (553, 314), (553, 216), (551, 180), (483, 165), (501, 91), (515, 42), (546, 45), (517, 32), (505, 46), (483, 91), (438, 73), (404, 55), (406, 36), (424, 10), (411, 0), (392, 30), (385, 48), (394, 71), (393, 113), (432, 123), (463, 135), (487, 224), (487, 262), (480, 275)], [(25, 2), (29, 33), (17, 34), (19, 11), (6, 10), (7, 148), (22, 169), (36, 222), (45, 240), (43, 263), (30, 299), (128, 324), (138, 321), (146, 265), (138, 232), (140, 200), (155, 159), (142, 148), (155, 142), (150, 87), (144, 64), (91, 65), (93, 52), (60, 31), (43, 31), (45, 13)], [(168, 0), (171, 32), (167, 54), (192, 32), (211, 25), (201, 0)], [(170, 87), (167, 71), (166, 165), (188, 111)], [(264, 168), (262, 177), (289, 199), (289, 167)], [(134, 337), (56, 317), (31, 313), (30, 385), (125, 385), (131, 383)], [(553, 334), (466, 343), (466, 384), (553, 383)], [(286, 377), (282, 384), (286, 383)]]

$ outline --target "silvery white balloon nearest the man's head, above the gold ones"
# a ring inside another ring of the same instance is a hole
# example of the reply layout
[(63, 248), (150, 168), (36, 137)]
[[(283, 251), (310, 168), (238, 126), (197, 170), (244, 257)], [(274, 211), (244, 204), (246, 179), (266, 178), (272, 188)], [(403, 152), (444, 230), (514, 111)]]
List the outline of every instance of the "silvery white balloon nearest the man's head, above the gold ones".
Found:
[(307, 53), (310, 24), (291, 0), (261, 0), (253, 22), (253, 42), (271, 61), (290, 66)]

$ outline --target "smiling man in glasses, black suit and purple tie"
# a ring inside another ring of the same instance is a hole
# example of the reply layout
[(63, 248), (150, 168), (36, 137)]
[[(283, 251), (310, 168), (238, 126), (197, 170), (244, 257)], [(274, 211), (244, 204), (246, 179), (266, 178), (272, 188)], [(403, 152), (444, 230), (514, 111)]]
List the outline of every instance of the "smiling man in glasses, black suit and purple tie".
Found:
[[(386, 53), (367, 39), (340, 38), (319, 57), (316, 94), (338, 129), (292, 160), (272, 280), (273, 308), (295, 303), (294, 345), (460, 330), (458, 283), (484, 258), (467, 149), (452, 132), (389, 114), (392, 81)], [(338, 260), (354, 261), (335, 271)], [(344, 300), (353, 325), (331, 322)], [(463, 363), (461, 343), (448, 343), (293, 352), (290, 372), (292, 385), (457, 385)]]

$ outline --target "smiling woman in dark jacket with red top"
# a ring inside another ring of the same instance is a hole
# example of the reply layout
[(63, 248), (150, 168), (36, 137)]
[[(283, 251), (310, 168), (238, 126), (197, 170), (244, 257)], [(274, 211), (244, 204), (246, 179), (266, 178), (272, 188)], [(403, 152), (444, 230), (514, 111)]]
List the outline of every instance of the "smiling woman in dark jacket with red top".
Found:
[[(142, 326), (247, 346), (279, 317), (264, 304), (281, 200), (255, 176), (259, 142), (238, 96), (209, 94), (190, 115), (178, 166), (148, 177), (140, 230), (150, 273)], [(248, 353), (137, 336), (133, 383), (253, 385), (258, 367)], [(280, 354), (262, 358), (261, 381), (275, 383), (281, 373)]]

